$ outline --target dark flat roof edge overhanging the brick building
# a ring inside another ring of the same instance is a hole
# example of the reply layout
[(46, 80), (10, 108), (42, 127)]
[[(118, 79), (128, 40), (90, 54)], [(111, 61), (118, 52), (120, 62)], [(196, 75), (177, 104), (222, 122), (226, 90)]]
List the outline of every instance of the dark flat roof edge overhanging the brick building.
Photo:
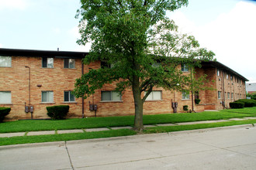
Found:
[[(49, 51), (49, 50), (35, 50), (35, 49), (4, 49), (0, 48), (0, 56), (35, 56), (35, 57), (53, 57), (53, 58), (78, 58), (82, 59), (88, 52), (71, 52), (71, 51)], [(249, 81), (244, 76), (236, 71), (230, 69), (228, 66), (217, 61), (202, 61), (202, 66), (211, 66), (220, 70), (225, 70), (240, 79)]]

